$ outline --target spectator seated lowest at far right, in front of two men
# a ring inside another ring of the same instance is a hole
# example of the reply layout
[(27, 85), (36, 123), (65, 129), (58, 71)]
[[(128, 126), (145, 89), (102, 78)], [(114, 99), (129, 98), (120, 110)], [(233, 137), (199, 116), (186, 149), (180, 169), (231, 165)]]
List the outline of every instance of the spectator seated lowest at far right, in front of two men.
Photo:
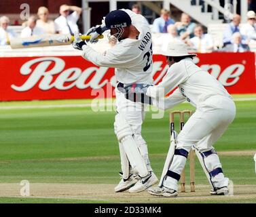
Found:
[(249, 46), (245, 43), (242, 43), (242, 35), (240, 33), (234, 33), (232, 35), (232, 41), (233, 43), (226, 45), (221, 51), (234, 53), (250, 51)]

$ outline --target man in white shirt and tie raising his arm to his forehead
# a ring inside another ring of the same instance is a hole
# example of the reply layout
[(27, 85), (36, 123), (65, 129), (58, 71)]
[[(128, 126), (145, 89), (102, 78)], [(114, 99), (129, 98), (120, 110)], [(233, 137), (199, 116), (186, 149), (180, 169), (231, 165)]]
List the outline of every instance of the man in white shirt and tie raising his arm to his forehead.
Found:
[[(69, 11), (73, 11), (72, 14)], [(60, 34), (71, 34), (79, 32), (77, 20), (81, 14), (81, 7), (61, 5), (60, 16), (54, 20), (56, 24), (56, 31)]]

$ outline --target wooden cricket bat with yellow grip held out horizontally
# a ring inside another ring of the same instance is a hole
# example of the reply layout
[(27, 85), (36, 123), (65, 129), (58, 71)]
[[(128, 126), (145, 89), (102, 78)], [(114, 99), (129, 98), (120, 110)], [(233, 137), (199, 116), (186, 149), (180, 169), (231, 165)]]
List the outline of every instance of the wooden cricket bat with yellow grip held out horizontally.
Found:
[[(90, 35), (81, 35), (81, 39), (88, 40)], [(103, 35), (98, 36), (97, 39), (103, 39)], [(12, 49), (29, 48), (29, 47), (46, 47), (46, 46), (59, 46), (70, 45), (74, 41), (73, 35), (37, 35), (27, 38), (14, 38), (10, 40)]]

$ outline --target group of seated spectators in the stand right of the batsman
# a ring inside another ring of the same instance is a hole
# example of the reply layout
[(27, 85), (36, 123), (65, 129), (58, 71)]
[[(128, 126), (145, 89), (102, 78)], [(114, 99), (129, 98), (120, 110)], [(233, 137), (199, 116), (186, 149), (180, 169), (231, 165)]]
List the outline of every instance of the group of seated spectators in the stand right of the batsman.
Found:
[[(175, 22), (170, 18), (170, 12), (162, 9), (160, 18), (153, 21), (153, 33), (167, 33), (159, 37), (159, 41), (180, 40), (192, 50), (198, 53), (208, 52), (248, 52), (249, 42), (256, 40), (256, 14), (253, 11), (247, 13), (247, 22), (240, 25), (240, 15), (234, 15), (233, 20), (227, 24), (223, 32), (223, 47), (215, 47), (211, 35), (204, 33), (200, 24), (191, 22), (188, 14), (181, 14), (181, 20)], [(156, 40), (156, 45), (158, 41)], [(161, 49), (164, 49), (162, 47)]]

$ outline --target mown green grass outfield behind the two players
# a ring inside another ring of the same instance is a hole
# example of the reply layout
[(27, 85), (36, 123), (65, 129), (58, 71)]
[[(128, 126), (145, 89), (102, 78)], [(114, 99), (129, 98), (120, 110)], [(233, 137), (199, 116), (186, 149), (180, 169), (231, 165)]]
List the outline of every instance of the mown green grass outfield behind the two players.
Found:
[[(248, 100), (236, 101), (236, 119), (217, 141), (215, 148), (221, 153), (248, 151), (249, 154), (223, 154), (220, 158), (226, 176), (235, 185), (255, 185), (251, 153), (256, 150), (256, 100), (253, 99), (256, 94), (237, 95), (234, 98)], [(119, 182), (119, 150), (113, 132), (115, 112), (94, 112), (90, 106), (83, 104), (90, 104), (90, 100), (0, 102), (0, 183), (18, 185), (21, 180), (29, 180), (31, 183), (113, 185)], [(45, 105), (48, 107), (42, 107)], [(193, 108), (189, 104), (181, 104), (174, 109)], [(153, 170), (160, 177), (169, 145), (168, 111), (162, 119), (151, 119), (151, 114), (147, 113), (143, 123), (143, 136), (148, 143)], [(207, 184), (197, 160), (196, 184)], [(205, 202), (200, 198), (183, 202), (193, 201)], [(0, 192), (0, 203), (96, 202), (118, 201), (79, 197), (17, 198), (1, 195)], [(208, 202), (225, 203), (215, 198)], [(226, 202), (256, 203), (256, 196)]]

